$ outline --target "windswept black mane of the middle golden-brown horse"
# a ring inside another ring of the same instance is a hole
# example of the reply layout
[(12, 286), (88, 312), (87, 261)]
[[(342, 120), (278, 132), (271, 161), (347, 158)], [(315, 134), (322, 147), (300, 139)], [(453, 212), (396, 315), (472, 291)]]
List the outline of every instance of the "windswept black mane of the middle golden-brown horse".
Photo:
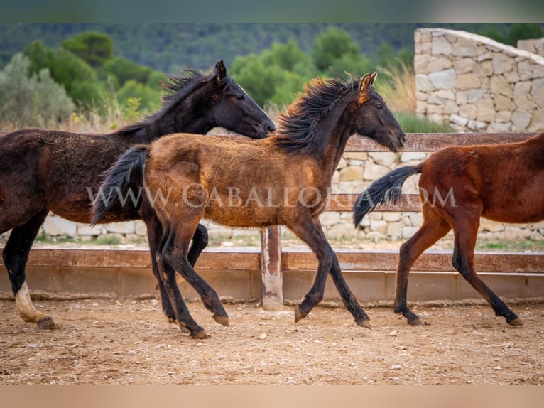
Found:
[[(357, 90), (360, 78), (351, 82), (338, 79), (317, 78), (305, 85), (304, 93), (281, 112), (278, 117), (278, 132), (274, 143), (288, 153), (306, 149), (313, 154), (321, 154), (328, 135), (319, 132), (320, 121), (349, 92)], [(321, 140), (317, 140), (320, 138)]]

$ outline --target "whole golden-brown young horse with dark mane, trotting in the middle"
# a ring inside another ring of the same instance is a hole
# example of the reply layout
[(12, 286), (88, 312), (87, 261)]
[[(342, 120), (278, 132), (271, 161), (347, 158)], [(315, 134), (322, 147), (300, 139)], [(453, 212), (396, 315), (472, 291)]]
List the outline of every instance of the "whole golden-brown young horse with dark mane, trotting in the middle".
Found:
[[(125, 188), (132, 175), (147, 193), (161, 192), (168, 198), (153, 206), (163, 225), (156, 258), (170, 301), (178, 306), (176, 318), (192, 338), (207, 335), (192, 320), (174, 271), (185, 279), (195, 276), (187, 248), (202, 218), (241, 228), (285, 225), (318, 260), (312, 287), (295, 308), (295, 322), (322, 300), (330, 273), (354, 321), (370, 328), (369, 317), (342, 277), (319, 215), (349, 136), (358, 133), (391, 151), (403, 149), (406, 135), (374, 90), (376, 75), (310, 81), (280, 114), (279, 130), (267, 139), (210, 143), (175, 134), (134, 146), (109, 170), (104, 191)], [(92, 222), (98, 222), (110, 206), (111, 202), (95, 200)], [(217, 294), (212, 297), (219, 303)]]

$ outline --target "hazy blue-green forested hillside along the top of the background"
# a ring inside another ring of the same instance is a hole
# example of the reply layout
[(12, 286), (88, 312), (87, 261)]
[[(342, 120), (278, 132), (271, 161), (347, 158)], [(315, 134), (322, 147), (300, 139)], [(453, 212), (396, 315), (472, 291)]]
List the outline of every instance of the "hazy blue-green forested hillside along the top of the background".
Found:
[[(114, 54), (165, 72), (190, 63), (209, 68), (223, 59), (227, 66), (237, 55), (261, 53), (274, 42), (295, 39), (308, 51), (317, 34), (332, 23), (0, 23), (0, 66), (39, 39), (57, 48), (65, 38), (82, 31), (107, 33)], [(506, 35), (507, 23), (337, 23), (359, 43), (361, 52), (374, 55), (382, 43), (393, 51), (413, 48), (419, 27), (446, 27)]]

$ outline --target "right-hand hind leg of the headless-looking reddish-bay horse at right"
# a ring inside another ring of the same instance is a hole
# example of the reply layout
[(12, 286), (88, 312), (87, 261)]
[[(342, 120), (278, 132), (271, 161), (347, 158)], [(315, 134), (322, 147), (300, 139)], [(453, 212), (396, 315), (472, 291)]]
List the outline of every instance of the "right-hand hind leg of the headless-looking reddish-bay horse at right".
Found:
[(482, 295), (493, 308), (496, 316), (505, 317), (506, 323), (512, 326), (521, 326), (522, 322), (516, 313), (513, 313), (504, 304), (504, 301), (496, 296), (489, 286), (484, 284), (484, 281), (478, 277), (474, 269), (474, 246), (476, 245), (480, 214), (481, 210), (473, 210), (470, 213), (463, 212), (452, 222), (455, 235), (452, 257), (453, 267)]

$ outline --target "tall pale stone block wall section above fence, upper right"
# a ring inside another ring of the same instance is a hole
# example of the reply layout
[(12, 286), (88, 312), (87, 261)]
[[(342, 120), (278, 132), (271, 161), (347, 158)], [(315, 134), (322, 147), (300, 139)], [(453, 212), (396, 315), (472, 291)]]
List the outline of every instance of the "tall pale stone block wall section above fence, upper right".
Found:
[(422, 28), (414, 68), (418, 115), (459, 131), (544, 129), (540, 55), (465, 31)]

